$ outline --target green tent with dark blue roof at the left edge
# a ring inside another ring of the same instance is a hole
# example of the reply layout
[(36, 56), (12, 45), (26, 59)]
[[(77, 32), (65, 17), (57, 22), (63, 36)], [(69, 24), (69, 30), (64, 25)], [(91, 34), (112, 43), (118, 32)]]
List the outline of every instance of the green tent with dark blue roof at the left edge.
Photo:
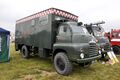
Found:
[(10, 32), (0, 28), (0, 62), (9, 61)]

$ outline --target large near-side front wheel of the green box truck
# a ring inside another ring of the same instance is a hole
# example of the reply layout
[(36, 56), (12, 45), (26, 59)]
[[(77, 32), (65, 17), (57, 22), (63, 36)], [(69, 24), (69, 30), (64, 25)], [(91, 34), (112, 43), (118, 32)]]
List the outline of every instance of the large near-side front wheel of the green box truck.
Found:
[(54, 57), (54, 67), (59, 74), (69, 75), (72, 72), (72, 64), (67, 55), (63, 52), (57, 53)]

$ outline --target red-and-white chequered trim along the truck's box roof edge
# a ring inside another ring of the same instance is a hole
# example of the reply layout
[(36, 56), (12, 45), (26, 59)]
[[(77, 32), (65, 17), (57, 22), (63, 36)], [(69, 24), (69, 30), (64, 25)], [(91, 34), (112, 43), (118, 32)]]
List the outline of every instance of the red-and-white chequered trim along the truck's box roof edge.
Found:
[(19, 20), (16, 21), (16, 23), (18, 24), (18, 23), (25, 22), (25, 21), (28, 21), (28, 20), (31, 20), (31, 19), (34, 19), (34, 18), (45, 16), (45, 15), (48, 15), (48, 14), (56, 14), (56, 15), (59, 15), (59, 16), (64, 16), (64, 17), (73, 19), (73, 20), (78, 20), (78, 16), (76, 16), (74, 14), (71, 14), (69, 12), (66, 12), (66, 11), (63, 11), (63, 10), (60, 10), (60, 9), (50, 8), (50, 9), (38, 12), (36, 14), (27, 16), (25, 18), (19, 19)]

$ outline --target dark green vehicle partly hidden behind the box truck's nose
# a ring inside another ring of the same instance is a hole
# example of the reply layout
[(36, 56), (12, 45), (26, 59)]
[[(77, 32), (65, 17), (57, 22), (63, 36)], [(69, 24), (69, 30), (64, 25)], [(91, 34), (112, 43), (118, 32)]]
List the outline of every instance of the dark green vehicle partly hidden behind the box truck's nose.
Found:
[(105, 58), (106, 53), (111, 51), (110, 42), (107, 37), (104, 36), (104, 29), (102, 28), (101, 24), (104, 24), (105, 22), (97, 22), (97, 23), (91, 23), (91, 24), (85, 24), (86, 29), (88, 32), (93, 35), (96, 38), (96, 42), (99, 45), (99, 48), (102, 52), (102, 57)]

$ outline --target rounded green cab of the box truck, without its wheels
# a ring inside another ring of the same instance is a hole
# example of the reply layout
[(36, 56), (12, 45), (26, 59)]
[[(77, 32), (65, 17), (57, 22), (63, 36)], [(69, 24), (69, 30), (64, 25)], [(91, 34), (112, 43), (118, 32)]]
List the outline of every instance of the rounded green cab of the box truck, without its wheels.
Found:
[(72, 21), (59, 25), (54, 44), (54, 50), (56, 49), (65, 50), (72, 61), (79, 63), (91, 62), (92, 57), (99, 56), (95, 39), (86, 28)]

